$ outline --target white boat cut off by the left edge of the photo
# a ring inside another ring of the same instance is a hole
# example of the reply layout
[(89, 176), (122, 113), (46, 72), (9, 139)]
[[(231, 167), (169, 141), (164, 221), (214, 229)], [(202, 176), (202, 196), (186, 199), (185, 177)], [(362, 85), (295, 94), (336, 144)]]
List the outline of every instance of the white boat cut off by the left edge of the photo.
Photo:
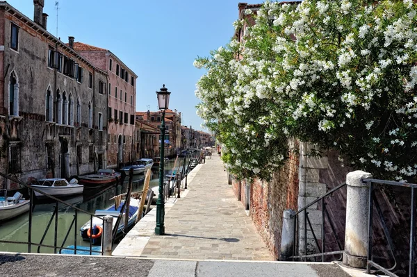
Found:
[(12, 219), (18, 215), (22, 215), (30, 208), (30, 200), (23, 198), (23, 194), (16, 192), (13, 197), (7, 197), (7, 190), (0, 190), (0, 221)]

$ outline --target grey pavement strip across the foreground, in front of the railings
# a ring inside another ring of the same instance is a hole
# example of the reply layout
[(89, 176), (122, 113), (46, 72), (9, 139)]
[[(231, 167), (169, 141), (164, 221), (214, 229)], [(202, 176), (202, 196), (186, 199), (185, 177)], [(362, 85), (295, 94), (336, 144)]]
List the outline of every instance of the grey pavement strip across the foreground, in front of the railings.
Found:
[(370, 277), (333, 263), (151, 260), (83, 255), (0, 253), (1, 276)]

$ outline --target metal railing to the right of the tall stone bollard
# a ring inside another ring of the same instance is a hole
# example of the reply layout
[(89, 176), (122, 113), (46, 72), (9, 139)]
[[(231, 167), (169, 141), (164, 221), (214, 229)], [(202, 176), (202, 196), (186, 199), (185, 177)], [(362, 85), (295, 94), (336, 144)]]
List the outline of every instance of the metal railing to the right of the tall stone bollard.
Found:
[[(399, 187), (409, 187), (411, 188), (411, 217), (410, 217), (410, 239), (409, 239), (409, 276), (415, 276), (416, 273), (416, 188), (417, 184), (411, 184), (411, 183), (400, 183), (400, 182), (394, 182), (394, 181), (384, 181), (384, 180), (378, 180), (378, 179), (370, 179), (366, 178), (363, 179), (364, 183), (367, 183), (369, 185), (369, 207), (368, 207), (368, 263), (366, 266), (366, 272), (369, 274), (370, 269), (374, 267), (375, 269), (378, 269), (384, 274), (388, 276), (398, 277), (398, 275), (393, 273), (393, 270), (396, 269), (398, 263), (395, 258), (395, 249), (393, 240), (391, 239), (391, 235), (389, 233), (389, 230), (386, 226), (386, 222), (384, 220), (384, 217), (382, 215), (382, 210), (380, 208), (380, 205), (377, 201), (377, 198), (375, 197), (375, 185), (395, 185)], [(377, 262), (373, 261), (373, 207), (375, 205), (375, 210), (377, 210), (377, 215), (379, 217), (379, 222), (382, 224), (382, 228), (384, 230), (384, 234), (386, 237), (386, 240), (388, 242), (389, 250), (391, 253), (391, 256), (394, 260), (393, 267), (386, 269), (385, 267), (382, 267), (381, 265), (378, 265)]]

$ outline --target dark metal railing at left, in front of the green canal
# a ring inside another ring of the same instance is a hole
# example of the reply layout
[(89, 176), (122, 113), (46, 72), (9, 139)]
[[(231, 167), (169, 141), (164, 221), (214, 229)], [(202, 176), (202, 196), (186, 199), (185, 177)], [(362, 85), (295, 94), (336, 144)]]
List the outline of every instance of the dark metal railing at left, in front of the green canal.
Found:
[[(74, 205), (71, 205), (70, 203), (67, 203), (66, 201), (63, 201), (61, 199), (56, 198), (55, 196), (46, 194), (44, 192), (42, 192), (41, 190), (38, 190), (35, 187), (32, 187), (31, 185), (24, 183), (23, 181), (20, 181), (17, 178), (13, 178), (11, 176), (7, 176), (6, 174), (3, 174), (0, 172), (0, 176), (3, 178), (6, 178), (8, 180), (10, 180), (13, 183), (17, 183), (19, 185), (22, 185), (23, 187), (26, 187), (28, 189), (28, 194), (29, 194), (29, 216), (28, 216), (28, 237), (27, 237), (27, 241), (26, 242), (22, 242), (22, 241), (13, 241), (13, 240), (0, 240), (0, 243), (3, 244), (26, 244), (28, 246), (28, 253), (32, 252), (32, 246), (38, 246), (37, 252), (40, 253), (40, 248), (41, 247), (45, 247), (45, 248), (49, 248), (49, 249), (54, 249), (54, 253), (61, 253), (61, 251), (65, 250), (69, 250), (69, 251), (74, 251), (74, 254), (76, 254), (76, 251), (80, 251), (80, 249), (77, 249), (77, 236), (79, 235), (79, 230), (77, 229), (77, 223), (78, 223), (78, 217), (79, 217), (79, 212), (82, 212), (86, 215), (90, 215), (90, 230), (92, 230), (92, 218), (98, 218), (102, 220), (103, 226), (104, 226), (104, 218), (103, 217), (99, 217), (97, 215), (94, 215), (90, 212), (87, 212), (85, 210), (82, 210), (80, 208), (77, 208)], [(6, 183), (6, 182), (5, 182)], [(47, 199), (54, 201), (55, 202), (55, 207), (54, 207), (54, 212), (52, 212), (52, 215), (49, 219), (49, 222), (44, 230), (44, 233), (42, 235), (42, 238), (40, 240), (39, 243), (33, 242), (32, 240), (32, 234), (33, 234), (33, 210), (34, 210), (34, 192), (38, 192), (39, 194), (42, 194), (42, 196), (46, 197)], [(74, 219), (72, 220), (70, 227), (67, 229), (66, 235), (63, 239), (63, 242), (61, 243), (61, 245), (58, 245), (58, 204), (63, 204), (69, 208), (74, 209)], [(51, 224), (54, 221), (54, 245), (49, 245), (49, 244), (44, 244), (44, 239), (47, 236), (47, 233), (49, 231), (49, 229), (51, 228)], [(65, 247), (65, 244), (68, 240), (68, 238), (70, 237), (70, 233), (71, 230), (73, 229), (73, 235), (74, 235), (74, 249), (72, 248), (67, 248)], [(92, 250), (92, 245), (93, 245), (93, 239), (92, 237), (90, 237), (89, 240), (89, 249), (88, 252), (90, 253), (90, 255), (92, 255), (92, 253), (99, 253), (101, 255), (104, 254), (103, 248), (101, 248), (101, 251), (95, 251)]]

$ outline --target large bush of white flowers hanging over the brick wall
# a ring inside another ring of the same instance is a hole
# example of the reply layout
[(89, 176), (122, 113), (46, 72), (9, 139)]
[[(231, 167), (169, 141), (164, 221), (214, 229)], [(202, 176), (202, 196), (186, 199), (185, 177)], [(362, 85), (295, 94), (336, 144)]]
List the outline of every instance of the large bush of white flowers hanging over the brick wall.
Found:
[(252, 26), (234, 23), (245, 29), (241, 42), (195, 61), (207, 70), (197, 113), (226, 147), (229, 170), (268, 179), (295, 137), (375, 177), (416, 178), (416, 14), (410, 0), (247, 10)]

